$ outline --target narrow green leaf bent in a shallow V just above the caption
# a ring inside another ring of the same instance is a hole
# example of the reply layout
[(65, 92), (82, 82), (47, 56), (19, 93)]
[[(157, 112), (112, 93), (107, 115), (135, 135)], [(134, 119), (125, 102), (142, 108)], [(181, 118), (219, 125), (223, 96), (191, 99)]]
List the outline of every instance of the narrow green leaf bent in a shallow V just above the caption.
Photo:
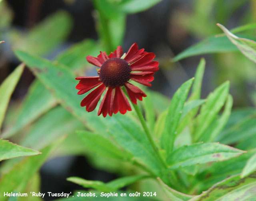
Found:
[(80, 177), (69, 177), (67, 178), (67, 180), (73, 183), (77, 183), (78, 185), (82, 185), (85, 188), (93, 188), (99, 191), (110, 192), (110, 191), (116, 191), (136, 181), (139, 181), (141, 179), (146, 179), (146, 178), (149, 178), (149, 176), (148, 175), (127, 176), (127, 177), (120, 177), (108, 183), (104, 183), (102, 181), (90, 181), (90, 180), (82, 179)]

